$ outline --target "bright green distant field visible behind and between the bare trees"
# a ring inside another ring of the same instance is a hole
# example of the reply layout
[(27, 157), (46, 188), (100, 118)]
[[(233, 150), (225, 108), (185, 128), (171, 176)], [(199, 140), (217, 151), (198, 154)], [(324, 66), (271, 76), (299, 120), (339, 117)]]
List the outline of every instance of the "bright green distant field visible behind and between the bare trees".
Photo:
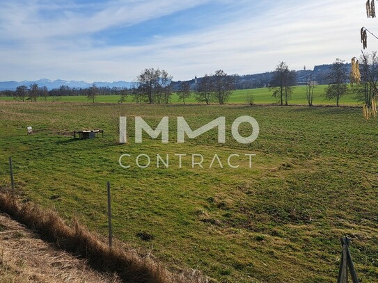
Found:
[[(324, 100), (324, 88), (326, 86), (317, 86), (314, 90), (314, 99), (313, 104), (315, 105), (324, 105), (330, 104), (334, 105), (336, 102)], [(248, 95), (253, 95), (255, 104), (276, 104), (278, 100), (274, 97), (271, 97), (271, 92), (268, 88), (255, 88), (249, 90), (235, 90), (233, 95), (228, 100), (228, 104), (247, 104), (246, 97)], [(95, 99), (95, 102), (107, 102), (107, 103), (117, 103), (119, 101), (119, 95), (98, 95)], [(0, 100), (13, 100), (13, 97), (0, 97)], [(41, 99), (43, 100), (43, 99)], [(85, 96), (69, 96), (69, 97), (47, 97), (48, 102), (88, 102), (91, 101)], [(127, 97), (125, 102), (132, 102), (132, 97)], [(197, 104), (194, 94), (185, 100), (189, 104)], [(180, 104), (178, 96), (176, 94), (172, 95), (171, 103)], [(216, 104), (216, 102), (212, 102)], [(306, 88), (304, 86), (299, 86), (295, 88), (294, 93), (292, 94), (292, 99), (290, 99), (289, 104), (307, 104), (306, 100)], [(349, 94), (340, 99), (340, 104), (344, 105), (360, 105), (361, 103), (356, 101), (355, 95)]]

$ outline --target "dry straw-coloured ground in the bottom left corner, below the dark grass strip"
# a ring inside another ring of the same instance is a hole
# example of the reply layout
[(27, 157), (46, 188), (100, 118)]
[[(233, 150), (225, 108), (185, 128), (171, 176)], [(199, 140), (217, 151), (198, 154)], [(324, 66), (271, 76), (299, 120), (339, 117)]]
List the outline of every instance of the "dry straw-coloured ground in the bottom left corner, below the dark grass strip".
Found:
[(0, 214), (0, 282), (121, 281), (116, 275), (90, 269), (83, 259), (54, 248), (6, 214)]

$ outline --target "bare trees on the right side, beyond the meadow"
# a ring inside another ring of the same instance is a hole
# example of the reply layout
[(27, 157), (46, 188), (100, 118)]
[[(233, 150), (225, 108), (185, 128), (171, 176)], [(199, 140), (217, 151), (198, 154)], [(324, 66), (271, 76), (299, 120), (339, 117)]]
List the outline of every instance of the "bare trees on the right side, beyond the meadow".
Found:
[[(361, 62), (361, 63), (360, 63)], [(289, 70), (285, 62), (276, 66), (269, 84), (272, 96), (278, 99), (281, 106), (288, 106), (297, 79), (294, 70)], [(352, 58), (349, 71), (344, 60), (336, 58), (326, 75), (328, 86), (324, 91), (324, 99), (333, 100), (340, 106), (340, 99), (347, 94), (354, 94), (356, 99), (364, 103), (365, 118), (377, 117), (376, 100), (378, 97), (378, 56), (376, 51), (362, 53), (359, 60)], [(306, 99), (308, 106), (313, 106), (313, 92), (317, 81), (312, 73), (306, 77)]]

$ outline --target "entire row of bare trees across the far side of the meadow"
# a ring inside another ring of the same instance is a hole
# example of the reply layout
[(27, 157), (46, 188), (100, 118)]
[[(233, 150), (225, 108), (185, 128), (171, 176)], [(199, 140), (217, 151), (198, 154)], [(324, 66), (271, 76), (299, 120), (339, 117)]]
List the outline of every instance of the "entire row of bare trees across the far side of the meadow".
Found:
[[(361, 62), (361, 63), (360, 63)], [(365, 102), (369, 115), (376, 115), (375, 99), (378, 93), (378, 57), (377, 52), (363, 53), (359, 60), (352, 58), (352, 70), (348, 71), (348, 65), (344, 60), (336, 58), (329, 72), (324, 76), (328, 86), (324, 92), (324, 99), (334, 100), (336, 106), (340, 106), (340, 98), (348, 93), (354, 93), (356, 98)], [(292, 92), (297, 86), (297, 71), (290, 70), (285, 62), (278, 63), (271, 72), (268, 83), (272, 97), (277, 99), (281, 106), (288, 106)], [(306, 99), (309, 106), (313, 105), (313, 93), (318, 85), (317, 76), (313, 72), (306, 74)], [(40, 88), (36, 83), (31, 86), (18, 86), (15, 91), (4, 90), (2, 95), (13, 96), (17, 100), (36, 101), (38, 97), (60, 97), (69, 95), (85, 95), (93, 103), (97, 95), (119, 95), (119, 103), (125, 102), (126, 97), (132, 97), (136, 103), (169, 104), (173, 92), (176, 92), (180, 101), (185, 104), (186, 99), (194, 97), (197, 102), (210, 104), (212, 102), (225, 104), (235, 90), (235, 77), (223, 70), (216, 70), (214, 74), (205, 74), (194, 81), (173, 82), (173, 76), (166, 70), (150, 68), (143, 70), (134, 80), (131, 88), (98, 88), (93, 84), (89, 88), (70, 88), (61, 86), (52, 90), (46, 87)], [(350, 86), (349, 86), (350, 83)], [(249, 104), (253, 104), (250, 97)], [(365, 111), (365, 110), (364, 110)]]

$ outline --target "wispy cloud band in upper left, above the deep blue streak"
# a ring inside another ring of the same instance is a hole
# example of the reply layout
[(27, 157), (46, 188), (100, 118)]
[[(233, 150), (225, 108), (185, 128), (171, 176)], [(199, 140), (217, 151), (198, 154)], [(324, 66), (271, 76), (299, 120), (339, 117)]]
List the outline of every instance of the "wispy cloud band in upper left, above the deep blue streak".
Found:
[[(43, 1), (13, 1), (0, 4), (0, 21), (2, 24), (8, 23), (7, 29), (3, 31), (6, 31), (10, 38), (16, 39), (86, 35), (111, 27), (138, 24), (207, 1), (112, 1), (107, 5), (98, 3), (92, 8), (74, 4), (59, 6), (54, 2), (48, 5)], [(45, 18), (44, 10), (56, 10), (55, 17)]]

